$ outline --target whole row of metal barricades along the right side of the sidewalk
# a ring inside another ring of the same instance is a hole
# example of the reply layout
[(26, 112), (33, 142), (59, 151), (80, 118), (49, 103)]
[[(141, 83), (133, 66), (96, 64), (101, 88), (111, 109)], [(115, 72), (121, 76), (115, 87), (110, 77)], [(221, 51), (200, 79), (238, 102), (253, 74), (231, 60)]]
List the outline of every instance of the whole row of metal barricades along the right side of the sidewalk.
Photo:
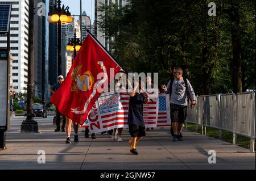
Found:
[(250, 149), (255, 151), (255, 92), (235, 94), (216, 94), (197, 96), (196, 108), (188, 108), (188, 123), (202, 126), (202, 134), (206, 127), (221, 131), (233, 132), (233, 144), (237, 134), (251, 138)]

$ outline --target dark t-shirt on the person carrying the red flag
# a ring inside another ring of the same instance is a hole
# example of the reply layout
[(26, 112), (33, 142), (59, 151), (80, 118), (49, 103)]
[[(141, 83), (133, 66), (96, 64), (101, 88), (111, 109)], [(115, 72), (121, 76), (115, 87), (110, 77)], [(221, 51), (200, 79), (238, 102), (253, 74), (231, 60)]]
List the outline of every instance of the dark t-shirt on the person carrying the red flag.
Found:
[(128, 124), (144, 125), (143, 120), (143, 103), (146, 98), (145, 93), (135, 93), (129, 99)]

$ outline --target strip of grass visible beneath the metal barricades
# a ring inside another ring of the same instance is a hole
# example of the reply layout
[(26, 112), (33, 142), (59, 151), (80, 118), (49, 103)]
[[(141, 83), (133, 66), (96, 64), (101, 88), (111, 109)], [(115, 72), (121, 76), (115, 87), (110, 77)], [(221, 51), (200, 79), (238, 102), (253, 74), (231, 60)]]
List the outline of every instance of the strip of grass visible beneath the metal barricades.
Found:
[[(197, 133), (202, 132), (201, 125), (197, 125), (197, 131), (196, 131), (196, 124), (194, 124), (194, 123), (187, 123), (187, 129), (197, 132)], [(207, 127), (207, 136), (218, 138), (218, 129)], [(222, 130), (221, 140), (230, 142), (232, 144), (233, 143), (233, 132)], [(247, 138), (247, 137), (241, 136), (241, 135), (237, 135), (237, 145), (242, 146), (243, 148), (250, 149), (250, 138)]]

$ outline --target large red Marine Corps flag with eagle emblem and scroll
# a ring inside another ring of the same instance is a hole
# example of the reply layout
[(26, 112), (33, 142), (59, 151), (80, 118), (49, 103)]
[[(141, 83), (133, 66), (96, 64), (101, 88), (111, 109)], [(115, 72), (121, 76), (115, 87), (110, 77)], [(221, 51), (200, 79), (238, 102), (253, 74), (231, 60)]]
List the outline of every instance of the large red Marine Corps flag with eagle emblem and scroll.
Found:
[[(114, 78), (113, 75), (110, 77), (111, 68), (114, 75), (121, 69), (89, 33), (65, 81), (52, 95), (51, 102), (62, 115), (84, 124), (90, 109), (102, 93), (98, 88), (103, 84), (108, 85)], [(99, 73), (100, 78), (97, 78)]]

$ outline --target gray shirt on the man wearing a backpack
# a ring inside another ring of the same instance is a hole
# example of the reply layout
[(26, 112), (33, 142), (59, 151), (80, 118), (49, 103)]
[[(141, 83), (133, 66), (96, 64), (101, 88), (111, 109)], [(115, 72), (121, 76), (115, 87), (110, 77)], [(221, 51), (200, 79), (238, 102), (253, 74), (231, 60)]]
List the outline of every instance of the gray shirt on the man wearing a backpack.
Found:
[[(193, 87), (191, 86), (190, 82), (188, 81), (188, 87), (187, 90), (189, 92), (189, 95), (191, 96), (191, 100), (196, 100), (196, 95), (195, 92), (193, 90)], [(167, 83), (167, 90), (166, 90), (166, 94), (170, 94), (170, 83), (171, 81), (169, 81)], [(177, 104), (177, 105), (182, 105), (182, 106), (188, 106), (188, 102), (187, 102), (187, 91), (186, 87), (185, 87), (185, 82), (184, 79), (174, 79), (174, 82), (172, 83), (172, 92), (171, 92), (171, 96), (170, 96), (170, 103), (171, 104)]]

